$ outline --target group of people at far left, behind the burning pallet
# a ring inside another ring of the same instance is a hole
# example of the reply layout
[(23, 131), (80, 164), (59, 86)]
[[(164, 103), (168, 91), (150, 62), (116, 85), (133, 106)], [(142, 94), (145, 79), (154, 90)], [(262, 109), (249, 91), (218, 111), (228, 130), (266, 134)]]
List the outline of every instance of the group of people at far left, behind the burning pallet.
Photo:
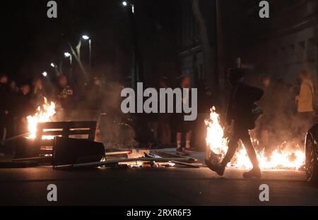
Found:
[[(17, 85), (8, 75), (0, 75), (0, 138), (1, 141), (28, 133), (28, 116), (33, 116), (39, 106), (53, 101), (57, 104), (57, 116), (69, 120), (73, 110), (81, 104), (83, 112), (92, 112), (99, 108), (101, 94), (100, 80), (92, 82), (78, 92), (65, 75), (59, 75), (56, 85), (45, 78), (34, 78), (31, 82)], [(89, 110), (89, 111), (86, 111)], [(6, 147), (9, 146), (9, 147)], [(9, 148), (9, 149), (8, 149)], [(0, 145), (0, 152), (11, 152), (10, 145)]]

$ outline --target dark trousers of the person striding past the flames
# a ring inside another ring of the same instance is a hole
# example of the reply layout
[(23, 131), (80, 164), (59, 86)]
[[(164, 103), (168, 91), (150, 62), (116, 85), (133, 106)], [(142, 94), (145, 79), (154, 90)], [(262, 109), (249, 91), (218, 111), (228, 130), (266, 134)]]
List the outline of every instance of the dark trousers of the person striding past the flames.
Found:
[(257, 160), (257, 153), (251, 142), (251, 137), (249, 136), (249, 130), (246, 128), (240, 128), (240, 126), (235, 126), (233, 130), (232, 137), (228, 144), (228, 152), (222, 161), (223, 166), (227, 166), (231, 159), (234, 157), (236, 150), (238, 148), (238, 141), (242, 140), (249, 160), (252, 162), (254, 168), (259, 168), (259, 161)]

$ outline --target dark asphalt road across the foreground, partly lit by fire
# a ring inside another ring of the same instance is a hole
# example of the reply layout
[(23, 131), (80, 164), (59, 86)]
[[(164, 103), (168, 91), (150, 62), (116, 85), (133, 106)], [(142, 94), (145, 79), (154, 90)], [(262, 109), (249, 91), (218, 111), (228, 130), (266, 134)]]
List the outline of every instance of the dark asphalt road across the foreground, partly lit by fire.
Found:
[[(229, 169), (220, 178), (201, 169), (90, 169), (51, 167), (0, 169), (1, 205), (318, 205), (318, 188), (300, 171), (264, 171), (244, 180)], [(47, 202), (47, 185), (57, 185), (57, 202)], [(259, 201), (259, 186), (270, 201)]]

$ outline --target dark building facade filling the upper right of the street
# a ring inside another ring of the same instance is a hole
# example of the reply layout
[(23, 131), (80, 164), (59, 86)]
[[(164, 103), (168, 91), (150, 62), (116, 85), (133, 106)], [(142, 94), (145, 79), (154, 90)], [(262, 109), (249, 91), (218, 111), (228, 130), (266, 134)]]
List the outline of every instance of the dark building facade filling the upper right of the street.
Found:
[[(240, 57), (253, 81), (268, 74), (295, 85), (298, 73), (307, 69), (317, 85), (317, 0), (270, 0), (270, 18), (259, 17), (258, 0), (199, 0), (213, 51), (210, 61), (205, 60), (192, 2), (179, 2), (177, 32), (182, 73), (194, 82), (203, 78), (213, 87), (214, 79), (226, 99), (227, 70), (237, 66)], [(207, 62), (213, 63), (209, 73), (204, 68)], [(213, 75), (218, 75), (217, 80)]]

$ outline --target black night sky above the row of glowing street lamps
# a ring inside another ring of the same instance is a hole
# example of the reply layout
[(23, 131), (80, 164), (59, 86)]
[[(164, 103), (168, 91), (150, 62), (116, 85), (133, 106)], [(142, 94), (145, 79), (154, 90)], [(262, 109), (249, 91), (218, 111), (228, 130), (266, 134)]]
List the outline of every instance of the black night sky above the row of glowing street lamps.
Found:
[[(67, 42), (76, 46), (83, 34), (92, 37), (95, 68), (129, 71), (131, 23), (121, 2), (60, 0), (57, 1), (58, 18), (49, 19), (47, 0), (0, 1), (0, 72), (28, 80), (49, 71), (49, 63), (59, 63), (64, 51), (69, 50)], [(171, 42), (174, 37), (172, 10), (171, 1), (137, 0), (141, 48), (155, 49), (151, 44), (160, 42), (160, 37)], [(158, 26), (162, 29), (158, 30)], [(83, 45), (83, 59), (87, 49), (87, 45)]]

